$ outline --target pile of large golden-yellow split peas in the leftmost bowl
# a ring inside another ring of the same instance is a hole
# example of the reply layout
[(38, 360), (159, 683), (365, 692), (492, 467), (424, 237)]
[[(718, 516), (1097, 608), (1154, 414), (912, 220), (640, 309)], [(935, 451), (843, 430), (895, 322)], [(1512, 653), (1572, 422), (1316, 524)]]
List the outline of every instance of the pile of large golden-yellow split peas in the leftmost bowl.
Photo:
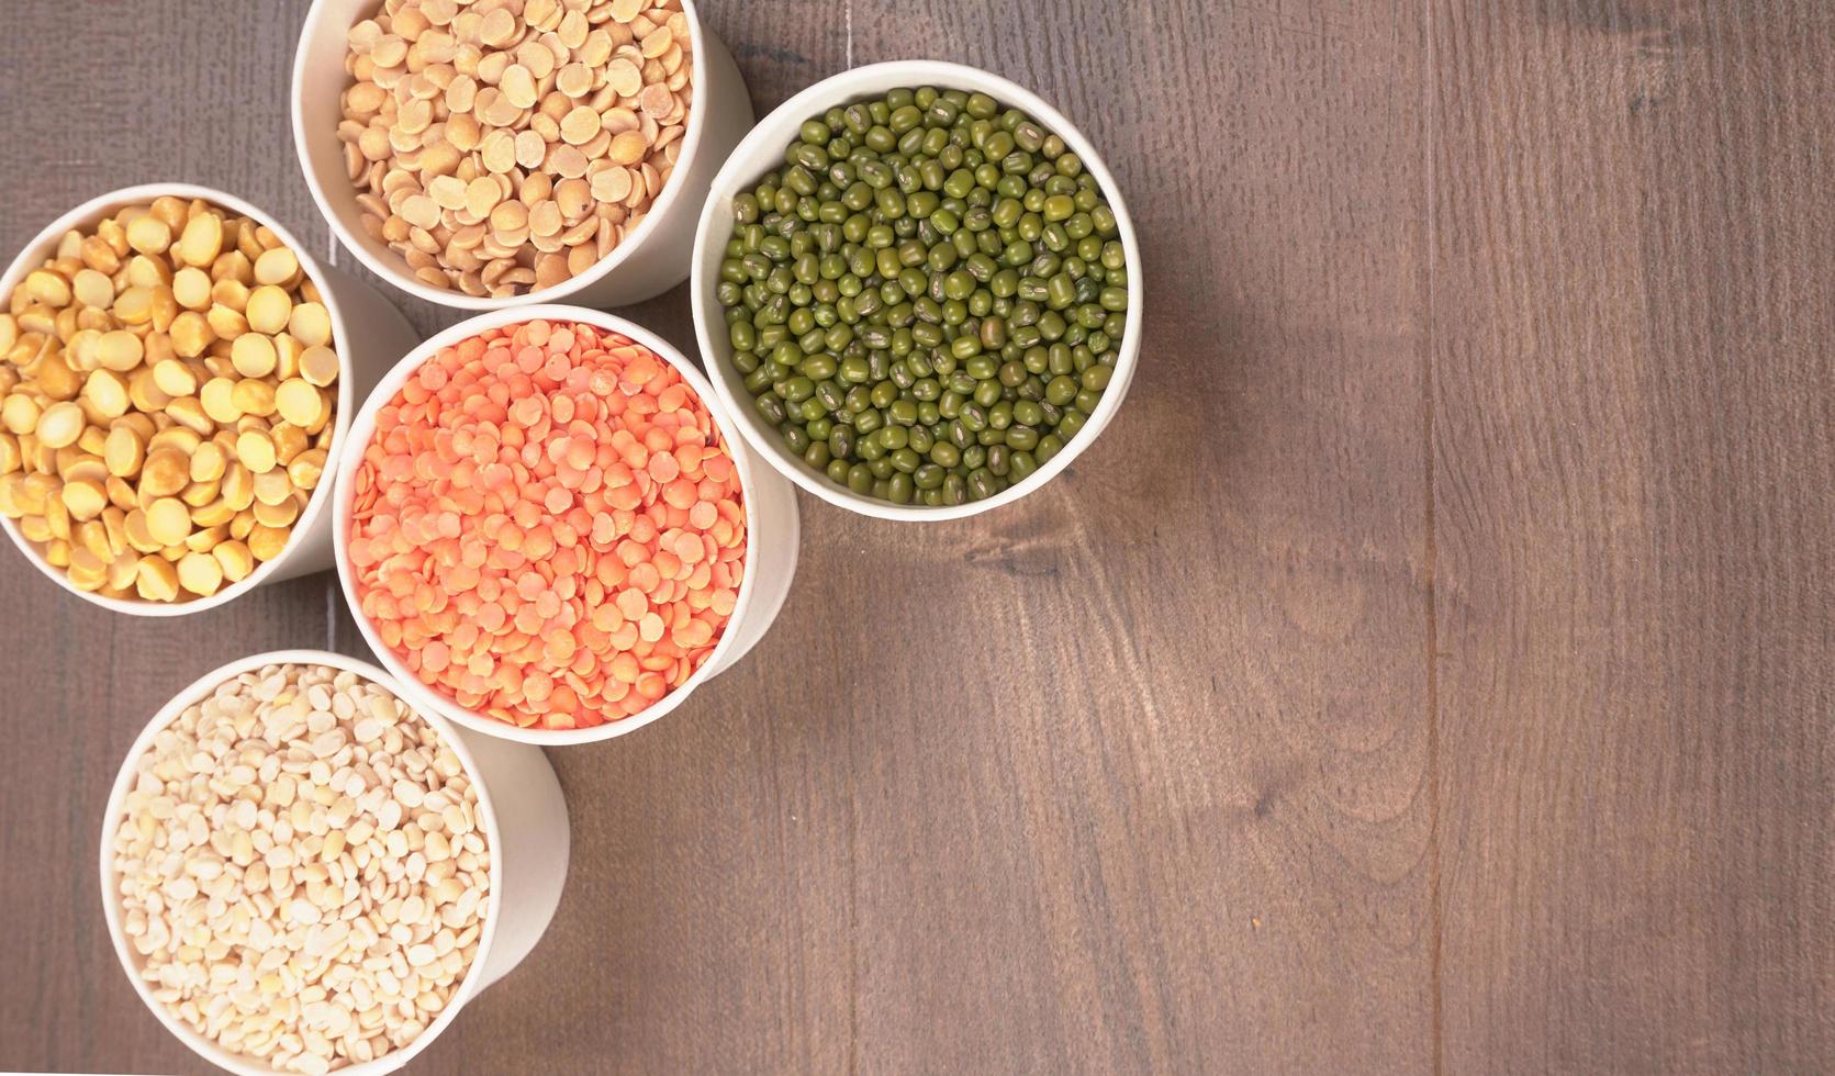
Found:
[(332, 321), (268, 228), (156, 198), (0, 314), (0, 512), (70, 582), (178, 602), (286, 549), (336, 419)]

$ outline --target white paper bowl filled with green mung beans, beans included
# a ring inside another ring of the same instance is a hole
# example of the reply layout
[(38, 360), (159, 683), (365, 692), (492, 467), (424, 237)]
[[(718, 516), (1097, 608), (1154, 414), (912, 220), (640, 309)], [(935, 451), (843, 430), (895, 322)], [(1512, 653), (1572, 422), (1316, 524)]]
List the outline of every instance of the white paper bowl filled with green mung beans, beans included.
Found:
[(1040, 488), (1140, 356), (1140, 248), (1090, 141), (936, 61), (844, 72), (754, 127), (701, 211), (690, 294), (741, 435), (886, 520)]

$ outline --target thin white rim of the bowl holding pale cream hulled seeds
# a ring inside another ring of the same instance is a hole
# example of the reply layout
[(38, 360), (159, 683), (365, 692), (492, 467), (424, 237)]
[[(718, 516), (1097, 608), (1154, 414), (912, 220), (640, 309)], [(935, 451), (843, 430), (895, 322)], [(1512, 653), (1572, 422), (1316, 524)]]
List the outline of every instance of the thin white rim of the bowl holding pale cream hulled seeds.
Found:
[(139, 731), (139, 736), (134, 738), (134, 745), (128, 747), (119, 773), (116, 773), (114, 790), (108, 793), (108, 808), (103, 813), (99, 878), (103, 891), (103, 918), (108, 920), (108, 936), (114, 940), (116, 957), (121, 960), (123, 971), (127, 971), (128, 981), (134, 984), (134, 992), (147, 1004), (147, 1008), (152, 1010), (160, 1023), (165, 1025), (165, 1030), (172, 1032), (172, 1036), (191, 1047), (191, 1050), (206, 1061), (231, 1072), (239, 1072), (242, 1076), (277, 1074), (275, 1069), (253, 1063), (255, 1059), (246, 1054), (231, 1054), (229, 1050), (224, 1050), (217, 1043), (206, 1039), (178, 1017), (169, 1014), (165, 1004), (152, 997), (152, 990), (147, 986), (147, 981), (139, 977), (138, 957), (128, 946), (127, 933), (121, 927), (121, 898), (116, 894), (114, 885), (114, 835), (121, 824), (121, 812), (127, 801), (130, 779), (134, 775), (134, 764), (139, 762), (139, 757), (145, 755), (149, 747), (152, 747), (154, 736), (171, 725), (172, 720), (185, 711), (185, 707), (209, 698), (209, 694), (215, 692), (224, 681), (268, 665), (327, 665), (354, 672), (363, 679), (387, 689), (440, 734), (446, 745), (453, 749), (453, 755), (459, 757), (459, 764), (464, 766), (466, 777), (472, 779), (472, 788), (477, 791), (477, 817), (484, 826), (484, 837), (490, 848), (490, 894), (484, 898), (484, 927), (479, 931), (477, 953), (472, 957), (472, 966), (466, 968), (464, 979), (459, 981), (459, 986), (446, 1001), (446, 1006), (440, 1008), (440, 1014), (433, 1017), (433, 1021), (411, 1043), (380, 1058), (338, 1069), (339, 1072), (349, 1072), (350, 1076), (378, 1076), (382, 1072), (393, 1072), (406, 1065), (420, 1050), (428, 1048), (428, 1045), (431, 1045), (433, 1039), (437, 1039), (440, 1032), (444, 1032), (446, 1026), (459, 1015), (459, 1010), (462, 1010), (479, 992), (479, 979), (484, 973), (484, 962), (490, 955), (490, 946), (497, 936), (497, 920), (503, 911), (503, 839), (497, 830), (497, 808), (490, 799), (490, 790), (484, 786), (481, 775), (483, 771), (477, 768), (472, 749), (464, 744), (464, 740), (453, 734), (453, 727), (444, 718), (417, 707), (409, 696), (400, 690), (400, 683), (396, 683), (393, 676), (367, 661), (330, 650), (270, 650), (266, 654), (251, 654), (206, 672), (198, 679), (191, 681), (191, 687), (180, 690), (171, 698), (171, 701), (160, 707), (152, 720), (147, 722), (147, 727)]

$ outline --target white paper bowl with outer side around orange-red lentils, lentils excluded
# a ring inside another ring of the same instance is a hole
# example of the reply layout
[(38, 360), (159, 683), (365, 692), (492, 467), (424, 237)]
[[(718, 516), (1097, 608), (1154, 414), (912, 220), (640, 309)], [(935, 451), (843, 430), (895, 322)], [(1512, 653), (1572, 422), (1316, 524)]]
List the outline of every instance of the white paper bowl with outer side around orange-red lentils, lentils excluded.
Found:
[[(732, 617), (727, 621), (727, 628), (721, 632), (714, 652), (681, 687), (651, 703), (650, 709), (639, 711), (629, 718), (606, 722), (589, 729), (521, 729), (488, 714), (472, 712), (442, 692), (437, 692), (422, 683), (420, 678), (415, 676), (415, 672), (407, 668), (382, 641), (382, 635), (376, 633), (369, 617), (363, 615), (363, 602), (358, 599), (356, 578), (350, 569), (350, 496), (356, 487), (345, 483), (354, 481), (356, 468), (363, 463), (363, 452), (376, 435), (376, 411), (393, 400), (407, 378), (415, 376), (420, 365), (439, 354), (442, 347), (451, 347), (470, 340), (486, 329), (521, 325), (523, 321), (578, 321), (593, 325), (600, 331), (618, 332), (620, 336), (628, 336), (629, 340), (648, 347), (664, 362), (673, 365), (675, 371), (683, 375), (683, 380), (688, 382), (688, 387), (701, 397), (701, 402), (714, 417), (714, 426), (719, 430), (721, 439), (725, 439), (727, 452), (732, 454), (732, 463), (740, 474), (740, 492), (745, 498), (745, 577), (740, 582), (740, 597), (732, 608)], [(358, 411), (352, 420), (345, 450), (338, 455), (338, 481), (341, 485), (338, 487), (339, 492), (334, 505), (332, 523), (334, 540), (338, 544), (338, 582), (343, 584), (345, 600), (350, 604), (350, 615), (356, 619), (356, 626), (363, 632), (363, 639), (369, 643), (371, 650), (376, 652), (389, 672), (393, 672), (402, 683), (406, 690), (404, 698), (413, 701), (417, 709), (433, 711), (488, 736), (505, 736), (525, 744), (560, 745), (591, 744), (642, 729), (650, 722), (655, 722), (662, 714), (683, 705), (683, 701), (686, 701), (697, 687), (745, 657), (745, 654), (765, 637), (771, 622), (776, 621), (778, 610), (784, 608), (784, 599), (789, 595), (791, 580), (796, 577), (796, 545), (800, 540), (796, 490), (758, 463), (758, 457), (734, 430), (732, 417), (725, 413), (719, 398), (708, 387), (706, 378), (703, 378), (701, 371), (697, 371), (692, 362), (683, 358), (675, 347), (633, 321), (582, 307), (519, 307), (514, 310), (479, 314), (477, 318), (461, 321), (417, 347), (389, 373), (389, 376), (382, 380), (382, 384), (376, 386), (369, 402), (363, 404), (363, 409)]]

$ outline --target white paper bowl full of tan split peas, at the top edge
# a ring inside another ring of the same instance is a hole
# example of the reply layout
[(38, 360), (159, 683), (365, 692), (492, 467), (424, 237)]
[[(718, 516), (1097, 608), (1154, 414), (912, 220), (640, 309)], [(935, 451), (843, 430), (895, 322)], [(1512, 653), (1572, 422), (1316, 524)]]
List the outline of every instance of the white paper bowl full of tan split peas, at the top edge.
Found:
[(694, 0), (316, 0), (292, 119), (319, 211), (391, 285), (617, 307), (688, 275), (752, 105)]

